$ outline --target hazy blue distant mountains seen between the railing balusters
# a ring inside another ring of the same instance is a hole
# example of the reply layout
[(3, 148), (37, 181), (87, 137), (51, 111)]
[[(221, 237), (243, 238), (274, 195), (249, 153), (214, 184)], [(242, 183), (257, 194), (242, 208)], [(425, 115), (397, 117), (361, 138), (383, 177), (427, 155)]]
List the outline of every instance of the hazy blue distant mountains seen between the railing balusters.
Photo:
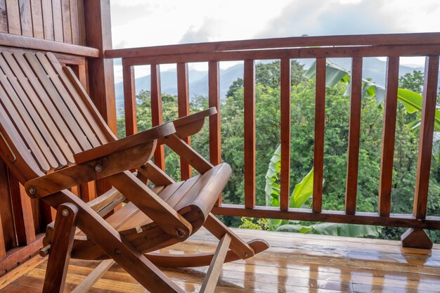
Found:
[[(334, 58), (335, 63), (341, 65), (344, 68), (350, 69), (351, 60), (349, 58)], [(270, 61), (261, 61), (268, 63)], [(307, 69), (313, 63), (312, 59), (299, 60), (304, 64), (304, 68)], [(377, 58), (363, 58), (363, 78), (371, 78), (377, 84), (384, 86), (386, 77), (387, 63)], [(424, 71), (423, 67), (408, 67), (401, 65), (399, 68), (399, 76), (403, 76), (406, 73), (411, 73), (414, 70)], [(229, 86), (237, 80), (243, 77), (243, 65), (238, 64), (232, 67), (228, 67), (226, 70), (220, 70), (220, 95), (223, 100), (226, 98), (226, 93)], [(177, 74), (176, 70), (163, 71), (160, 74), (162, 93), (169, 93), (170, 95), (177, 94)], [(189, 90), (190, 98), (195, 96), (207, 96), (208, 95), (208, 72), (189, 70)], [(150, 90), (150, 75), (136, 78), (136, 94), (141, 90)], [(440, 84), (440, 77), (439, 77)], [(124, 108), (124, 88), (122, 82), (115, 84), (116, 93), (116, 107), (118, 115), (122, 115)]]

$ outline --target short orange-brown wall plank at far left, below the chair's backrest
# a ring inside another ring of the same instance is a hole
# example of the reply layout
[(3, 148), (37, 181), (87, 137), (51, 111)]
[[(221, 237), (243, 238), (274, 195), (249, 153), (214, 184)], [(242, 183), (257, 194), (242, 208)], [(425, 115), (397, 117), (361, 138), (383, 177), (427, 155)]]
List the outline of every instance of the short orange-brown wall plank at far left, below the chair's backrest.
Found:
[(11, 195), (13, 195), (12, 204), (18, 245), (30, 245), (36, 240), (30, 197), (27, 196), (23, 185), (12, 174), (9, 176), (9, 185)]

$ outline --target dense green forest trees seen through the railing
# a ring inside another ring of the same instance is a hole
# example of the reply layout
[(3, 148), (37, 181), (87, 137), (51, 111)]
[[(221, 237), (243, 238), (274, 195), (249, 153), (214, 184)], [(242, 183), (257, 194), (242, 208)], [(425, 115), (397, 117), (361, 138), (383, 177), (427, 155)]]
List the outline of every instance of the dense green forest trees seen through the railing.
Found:
[[(292, 60), (291, 91), (291, 158), (290, 194), (295, 184), (302, 181), (313, 167), (313, 136), (315, 111), (315, 80), (304, 77), (304, 68)], [(399, 79), (399, 87), (420, 93), (423, 74), (413, 72)], [(325, 145), (323, 209), (344, 210), (347, 177), (347, 146), (349, 134), (349, 96), (345, 95), (347, 84), (339, 83), (326, 89), (325, 95)], [(268, 164), (280, 143), (280, 61), (256, 65), (256, 182), (257, 205), (266, 204), (265, 184)], [(137, 96), (138, 131), (151, 127), (150, 92), (142, 91)], [(207, 97), (198, 96), (190, 102), (190, 112), (208, 108)], [(177, 97), (162, 94), (164, 122), (177, 115)], [(412, 214), (415, 190), (415, 174), (418, 157), (418, 129), (410, 122), (417, 113), (408, 114), (401, 103), (397, 109), (396, 143), (394, 148), (394, 170), (392, 188), (392, 213)], [(382, 147), (383, 108), (376, 98), (366, 93), (361, 105), (361, 141), (359, 149), (357, 211), (377, 211), (377, 194), (380, 177)], [(118, 134), (124, 136), (124, 119), (118, 119)], [(207, 123), (202, 131), (191, 138), (195, 150), (209, 157)], [(243, 141), (243, 81), (238, 79), (231, 85), (227, 97), (221, 103), (221, 158), (233, 169), (231, 180), (226, 185), (223, 201), (244, 202), (244, 141)], [(165, 150), (167, 173), (180, 178), (179, 157)], [(440, 216), (440, 170), (439, 162), (432, 160), (429, 181), (427, 214)], [(229, 226), (266, 229), (267, 221), (257, 219), (223, 219)], [(299, 223), (310, 227), (314, 223)], [(334, 226), (333, 228), (335, 228)], [(340, 228), (339, 228), (340, 229)], [(380, 228), (377, 236), (384, 239), (399, 239), (404, 229)], [(429, 231), (434, 242), (440, 242), (440, 233)]]

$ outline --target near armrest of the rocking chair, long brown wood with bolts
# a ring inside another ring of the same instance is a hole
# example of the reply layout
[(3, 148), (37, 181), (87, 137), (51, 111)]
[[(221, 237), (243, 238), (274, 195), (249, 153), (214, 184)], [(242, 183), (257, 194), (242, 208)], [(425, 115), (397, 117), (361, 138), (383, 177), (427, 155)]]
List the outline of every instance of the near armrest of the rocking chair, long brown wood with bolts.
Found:
[(153, 155), (157, 138), (174, 134), (172, 123), (162, 124), (118, 141), (75, 155), (77, 164), (25, 183), (27, 194), (41, 198), (60, 190), (137, 168)]

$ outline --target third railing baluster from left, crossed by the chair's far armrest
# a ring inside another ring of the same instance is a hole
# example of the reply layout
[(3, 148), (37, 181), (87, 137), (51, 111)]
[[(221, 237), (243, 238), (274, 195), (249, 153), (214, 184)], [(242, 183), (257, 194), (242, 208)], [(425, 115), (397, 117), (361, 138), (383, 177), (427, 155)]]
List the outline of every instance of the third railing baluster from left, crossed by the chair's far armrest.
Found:
[[(179, 118), (190, 115), (190, 98), (188, 88), (188, 63), (177, 63), (177, 103)], [(190, 145), (190, 138), (182, 138)], [(180, 159), (181, 179), (191, 176), (191, 167), (185, 159)]]

